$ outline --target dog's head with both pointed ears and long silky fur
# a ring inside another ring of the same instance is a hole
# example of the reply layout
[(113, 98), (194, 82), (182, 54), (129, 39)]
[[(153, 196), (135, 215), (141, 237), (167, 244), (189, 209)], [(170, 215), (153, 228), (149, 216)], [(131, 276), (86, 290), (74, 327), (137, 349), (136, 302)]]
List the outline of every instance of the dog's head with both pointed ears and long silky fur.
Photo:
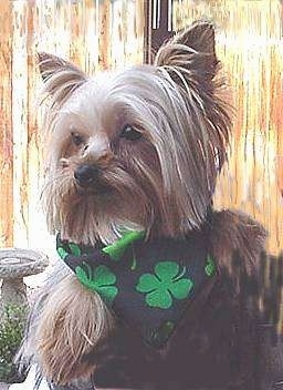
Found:
[(51, 230), (94, 244), (119, 227), (179, 236), (206, 217), (230, 120), (214, 32), (196, 23), (154, 65), (87, 78), (40, 54), (50, 100), (45, 208)]

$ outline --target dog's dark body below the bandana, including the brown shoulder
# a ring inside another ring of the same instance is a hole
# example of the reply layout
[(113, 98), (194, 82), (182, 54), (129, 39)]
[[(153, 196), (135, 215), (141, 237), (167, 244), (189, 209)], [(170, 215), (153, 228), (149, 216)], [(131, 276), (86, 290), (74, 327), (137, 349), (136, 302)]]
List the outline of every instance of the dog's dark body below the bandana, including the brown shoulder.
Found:
[(244, 290), (243, 280), (256, 280), (265, 234), (247, 216), (231, 212), (214, 213), (210, 228), (219, 267), (216, 280), (187, 310), (161, 351), (117, 322), (88, 357), (98, 388), (255, 389), (258, 296)]

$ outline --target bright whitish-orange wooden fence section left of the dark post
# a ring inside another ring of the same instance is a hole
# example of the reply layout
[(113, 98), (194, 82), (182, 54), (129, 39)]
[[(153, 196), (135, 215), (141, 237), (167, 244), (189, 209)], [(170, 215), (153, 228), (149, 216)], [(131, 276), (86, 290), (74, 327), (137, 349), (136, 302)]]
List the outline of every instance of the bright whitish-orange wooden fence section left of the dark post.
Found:
[(40, 212), (43, 158), (36, 52), (88, 74), (142, 63), (143, 0), (0, 0), (0, 246), (54, 246)]

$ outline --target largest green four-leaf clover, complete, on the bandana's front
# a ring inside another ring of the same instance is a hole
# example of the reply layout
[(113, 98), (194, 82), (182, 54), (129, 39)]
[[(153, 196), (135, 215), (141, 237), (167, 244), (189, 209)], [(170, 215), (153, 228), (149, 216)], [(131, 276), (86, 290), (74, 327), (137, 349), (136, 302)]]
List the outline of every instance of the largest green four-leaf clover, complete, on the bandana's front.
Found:
[(184, 278), (186, 267), (179, 273), (180, 267), (175, 261), (160, 261), (155, 266), (155, 274), (140, 276), (137, 291), (146, 292), (146, 302), (150, 307), (169, 309), (172, 306), (172, 297), (185, 299), (189, 296), (193, 286), (191, 279)]

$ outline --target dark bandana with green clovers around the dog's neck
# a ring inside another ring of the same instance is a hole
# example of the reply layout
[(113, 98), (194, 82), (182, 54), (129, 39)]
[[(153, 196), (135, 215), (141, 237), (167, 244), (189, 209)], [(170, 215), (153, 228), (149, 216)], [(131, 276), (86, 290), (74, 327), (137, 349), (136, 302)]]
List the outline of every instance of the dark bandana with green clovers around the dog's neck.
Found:
[(190, 304), (216, 275), (208, 239), (145, 240), (127, 232), (112, 245), (90, 247), (56, 238), (60, 257), (90, 290), (151, 346), (163, 348)]

